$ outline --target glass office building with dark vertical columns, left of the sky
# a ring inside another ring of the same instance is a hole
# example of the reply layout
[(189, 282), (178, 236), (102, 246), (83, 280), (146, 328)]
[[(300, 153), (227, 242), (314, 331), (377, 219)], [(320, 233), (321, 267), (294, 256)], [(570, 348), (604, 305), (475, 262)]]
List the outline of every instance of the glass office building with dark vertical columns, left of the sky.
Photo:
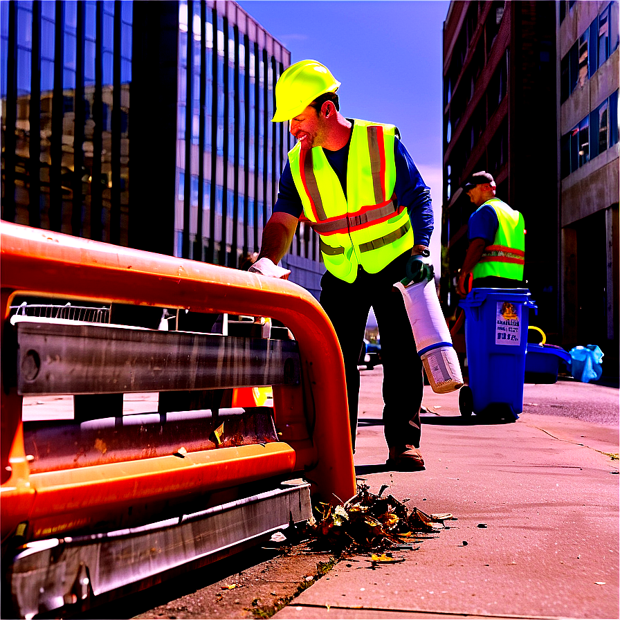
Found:
[[(233, 1), (0, 3), (6, 221), (236, 268), (292, 147), (291, 54)], [(318, 241), (284, 264), (316, 292)]]

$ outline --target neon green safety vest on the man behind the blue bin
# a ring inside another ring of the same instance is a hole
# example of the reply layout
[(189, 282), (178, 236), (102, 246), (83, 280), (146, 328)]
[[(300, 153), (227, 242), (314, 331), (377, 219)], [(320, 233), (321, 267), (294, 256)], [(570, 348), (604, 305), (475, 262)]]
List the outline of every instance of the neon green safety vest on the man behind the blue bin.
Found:
[(523, 280), (525, 264), (525, 221), (520, 212), (511, 209), (498, 198), (487, 200), (498, 216), (498, 232), (493, 244), (486, 246), (480, 261), (473, 268), (473, 278), (495, 275), (511, 280)]

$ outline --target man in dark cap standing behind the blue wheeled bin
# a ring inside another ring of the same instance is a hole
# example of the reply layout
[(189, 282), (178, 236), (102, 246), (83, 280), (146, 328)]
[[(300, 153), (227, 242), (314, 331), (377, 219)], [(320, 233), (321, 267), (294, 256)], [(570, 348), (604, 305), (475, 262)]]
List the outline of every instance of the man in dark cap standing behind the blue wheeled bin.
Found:
[[(477, 210), (468, 222), (469, 246), (459, 274), (457, 292), (465, 297), (472, 287), (520, 288), (525, 264), (523, 216), (495, 198), (495, 181), (489, 172), (475, 172), (462, 188)], [(468, 286), (468, 280), (471, 280), (471, 286)]]

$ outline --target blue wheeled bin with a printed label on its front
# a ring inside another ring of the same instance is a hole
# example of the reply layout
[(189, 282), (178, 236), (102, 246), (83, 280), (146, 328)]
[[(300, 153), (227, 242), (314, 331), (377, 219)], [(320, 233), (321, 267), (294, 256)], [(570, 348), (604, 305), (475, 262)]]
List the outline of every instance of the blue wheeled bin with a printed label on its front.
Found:
[(528, 289), (472, 289), (460, 306), (469, 370), (461, 414), (514, 421), (523, 410), (529, 311), (538, 307)]

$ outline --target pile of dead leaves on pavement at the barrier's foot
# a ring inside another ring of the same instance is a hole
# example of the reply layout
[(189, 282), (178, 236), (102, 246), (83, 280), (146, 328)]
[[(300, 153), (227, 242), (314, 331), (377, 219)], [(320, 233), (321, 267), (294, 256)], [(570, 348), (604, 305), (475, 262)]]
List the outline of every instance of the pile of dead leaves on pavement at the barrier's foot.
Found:
[(437, 532), (445, 520), (454, 519), (450, 514), (409, 510), (393, 495), (382, 497), (387, 488), (374, 495), (366, 484), (358, 484), (357, 495), (344, 505), (321, 504), (323, 513), (307, 526), (311, 545), (331, 551), (382, 551), (414, 542), (421, 533)]

